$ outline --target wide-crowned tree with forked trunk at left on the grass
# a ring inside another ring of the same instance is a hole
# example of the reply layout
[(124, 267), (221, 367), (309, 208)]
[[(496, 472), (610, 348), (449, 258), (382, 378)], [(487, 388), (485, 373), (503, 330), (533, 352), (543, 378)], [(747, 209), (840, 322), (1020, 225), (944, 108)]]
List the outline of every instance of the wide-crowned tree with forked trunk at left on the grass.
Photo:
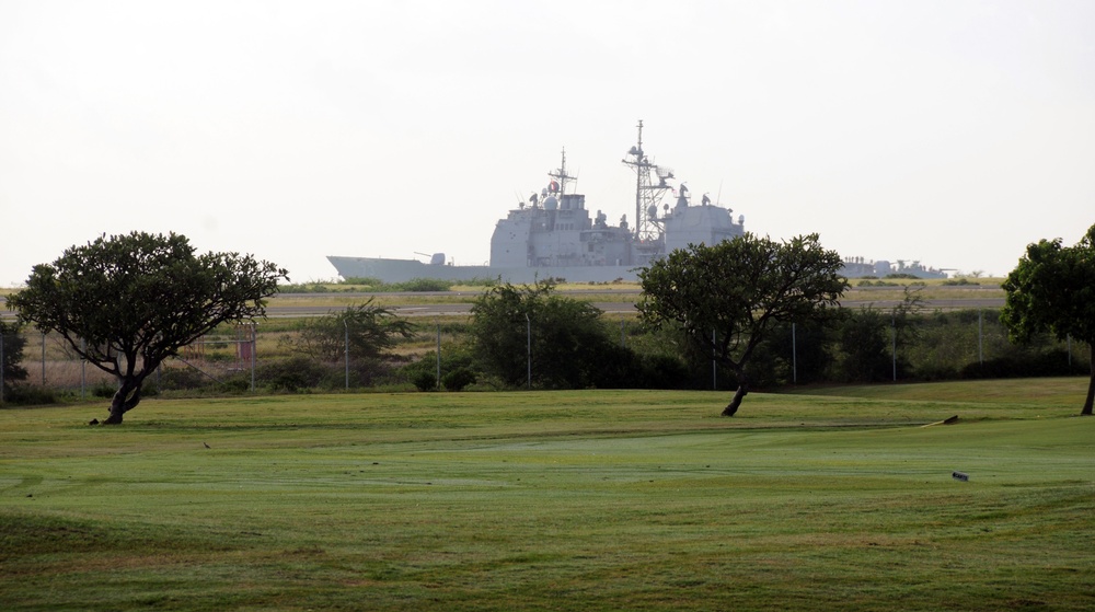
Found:
[(221, 323), (264, 316), (264, 298), (287, 274), (251, 255), (195, 255), (175, 233), (103, 235), (34, 266), (8, 308), (117, 378), (104, 422), (116, 424), (164, 359)]

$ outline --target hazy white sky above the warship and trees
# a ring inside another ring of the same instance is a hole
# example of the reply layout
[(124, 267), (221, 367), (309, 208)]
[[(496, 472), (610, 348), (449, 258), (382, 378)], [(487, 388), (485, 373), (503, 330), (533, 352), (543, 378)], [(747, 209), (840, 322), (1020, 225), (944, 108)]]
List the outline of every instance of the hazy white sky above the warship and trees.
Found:
[(458, 264), (565, 148), (776, 239), (1004, 275), (1095, 223), (1095, 2), (0, 0), (0, 286), (175, 231), (295, 281)]

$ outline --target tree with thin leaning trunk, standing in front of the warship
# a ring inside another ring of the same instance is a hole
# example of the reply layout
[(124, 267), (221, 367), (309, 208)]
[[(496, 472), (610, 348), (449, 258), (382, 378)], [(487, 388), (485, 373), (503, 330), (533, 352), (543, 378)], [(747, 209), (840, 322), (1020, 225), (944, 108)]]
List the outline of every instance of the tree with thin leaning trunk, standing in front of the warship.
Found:
[(738, 379), (723, 411), (733, 416), (749, 392), (747, 366), (777, 322), (826, 322), (848, 288), (835, 251), (818, 234), (785, 242), (751, 233), (713, 246), (690, 244), (639, 273), (642, 320), (679, 327)]

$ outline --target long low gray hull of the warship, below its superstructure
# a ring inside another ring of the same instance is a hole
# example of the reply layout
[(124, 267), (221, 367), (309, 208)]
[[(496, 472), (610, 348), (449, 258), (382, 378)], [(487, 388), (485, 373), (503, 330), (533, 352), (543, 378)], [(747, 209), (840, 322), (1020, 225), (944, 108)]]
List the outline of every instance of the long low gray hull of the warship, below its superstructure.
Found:
[(327, 256), (331, 265), (343, 278), (377, 278), (384, 282), (406, 282), (415, 278), (440, 280), (498, 280), (528, 284), (548, 278), (568, 282), (635, 281), (641, 266), (449, 266), (424, 264), (417, 259), (385, 259), (382, 257)]

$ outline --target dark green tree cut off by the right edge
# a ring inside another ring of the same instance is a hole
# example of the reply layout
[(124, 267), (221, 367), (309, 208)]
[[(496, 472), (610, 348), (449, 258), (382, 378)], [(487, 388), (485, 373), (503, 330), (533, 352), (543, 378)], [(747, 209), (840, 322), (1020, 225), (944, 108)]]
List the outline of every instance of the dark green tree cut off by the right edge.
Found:
[[(1086, 343), (1091, 351), (1095, 344), (1095, 226), (1074, 246), (1062, 246), (1059, 238), (1027, 245), (1003, 288), (1006, 296), (1000, 319), (1013, 342), (1026, 343), (1034, 334), (1050, 332), (1061, 340), (1071, 337)], [(1093, 402), (1095, 359), (1081, 414), (1091, 415)]]

